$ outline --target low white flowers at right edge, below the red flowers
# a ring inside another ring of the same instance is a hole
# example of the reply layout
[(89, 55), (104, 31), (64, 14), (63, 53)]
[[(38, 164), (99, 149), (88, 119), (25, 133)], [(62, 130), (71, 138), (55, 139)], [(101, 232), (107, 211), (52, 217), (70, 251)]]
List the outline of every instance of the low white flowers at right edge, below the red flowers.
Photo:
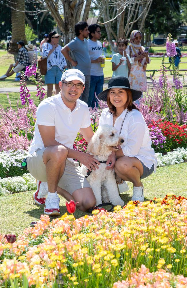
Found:
[(177, 148), (163, 156), (161, 153), (155, 153), (155, 155), (158, 160), (157, 167), (187, 162), (187, 148)]

